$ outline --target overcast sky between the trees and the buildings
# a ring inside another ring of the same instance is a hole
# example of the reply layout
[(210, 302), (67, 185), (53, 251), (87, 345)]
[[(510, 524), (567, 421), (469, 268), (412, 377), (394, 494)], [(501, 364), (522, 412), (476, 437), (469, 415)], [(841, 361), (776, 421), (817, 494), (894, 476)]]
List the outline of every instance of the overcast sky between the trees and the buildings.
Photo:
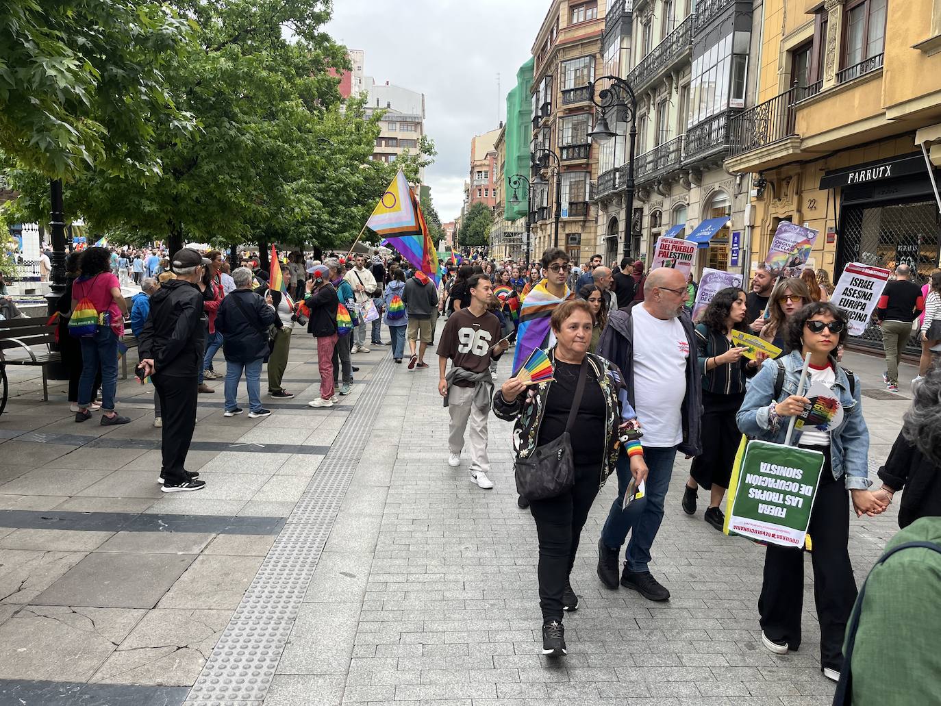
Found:
[(335, 0), (327, 31), (366, 52), (366, 75), (424, 93), (425, 132), (438, 150), (425, 182), (442, 221), (460, 213), (470, 137), (506, 120), (506, 93), (549, 7), (549, 0)]

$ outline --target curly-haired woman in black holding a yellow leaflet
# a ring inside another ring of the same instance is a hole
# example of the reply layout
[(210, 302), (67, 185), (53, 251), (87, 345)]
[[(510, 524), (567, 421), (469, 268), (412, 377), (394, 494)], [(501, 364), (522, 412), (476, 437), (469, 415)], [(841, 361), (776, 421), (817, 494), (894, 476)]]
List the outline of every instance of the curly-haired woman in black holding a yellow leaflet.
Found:
[(754, 376), (763, 360), (749, 361), (742, 356), (745, 348), (732, 345), (732, 330), (746, 330), (747, 309), (745, 293), (738, 287), (726, 287), (712, 297), (695, 331), (699, 369), (703, 371), (703, 451), (693, 459), (682, 505), (687, 515), (693, 515), (696, 486), (709, 490), (710, 502), (703, 519), (720, 532), (726, 516), (719, 505), (742, 441), (735, 413), (745, 398), (745, 378)]

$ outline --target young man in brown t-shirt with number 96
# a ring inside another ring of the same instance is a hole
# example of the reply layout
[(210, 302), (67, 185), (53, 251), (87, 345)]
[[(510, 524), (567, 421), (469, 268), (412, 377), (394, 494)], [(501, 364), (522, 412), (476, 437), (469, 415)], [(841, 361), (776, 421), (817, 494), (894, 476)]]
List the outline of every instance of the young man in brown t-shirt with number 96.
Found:
[[(493, 297), (493, 284), (486, 275), (468, 280), (470, 304), (448, 317), (438, 344), (438, 391), (451, 415), (448, 464), (461, 465), (464, 430), (470, 422), (470, 478), (480, 488), (493, 488), (486, 477), (490, 461), (486, 455), (486, 418), (493, 394), (490, 361), (499, 359), (509, 347), (500, 340), (500, 320), (486, 311)], [(448, 360), (452, 361), (447, 372)]]

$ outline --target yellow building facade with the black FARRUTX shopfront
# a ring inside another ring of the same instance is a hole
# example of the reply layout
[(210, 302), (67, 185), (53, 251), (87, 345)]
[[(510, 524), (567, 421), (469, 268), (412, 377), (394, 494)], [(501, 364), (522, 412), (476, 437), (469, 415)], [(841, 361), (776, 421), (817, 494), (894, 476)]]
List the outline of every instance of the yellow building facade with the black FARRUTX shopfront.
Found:
[(754, 182), (750, 264), (789, 220), (820, 232), (811, 258), (834, 281), (853, 262), (926, 281), (941, 265), (941, 3), (765, 5), (757, 104), (730, 121), (726, 159)]

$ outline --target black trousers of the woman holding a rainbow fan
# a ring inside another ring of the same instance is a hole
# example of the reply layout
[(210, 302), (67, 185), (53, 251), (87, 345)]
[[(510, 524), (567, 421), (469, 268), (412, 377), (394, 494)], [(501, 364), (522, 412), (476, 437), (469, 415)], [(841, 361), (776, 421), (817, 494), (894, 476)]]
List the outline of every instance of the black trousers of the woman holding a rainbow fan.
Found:
[(575, 467), (575, 485), (548, 500), (530, 501), (539, 538), (539, 607), (543, 623), (562, 621), (562, 592), (575, 565), (582, 527), (598, 495), (599, 464)]

